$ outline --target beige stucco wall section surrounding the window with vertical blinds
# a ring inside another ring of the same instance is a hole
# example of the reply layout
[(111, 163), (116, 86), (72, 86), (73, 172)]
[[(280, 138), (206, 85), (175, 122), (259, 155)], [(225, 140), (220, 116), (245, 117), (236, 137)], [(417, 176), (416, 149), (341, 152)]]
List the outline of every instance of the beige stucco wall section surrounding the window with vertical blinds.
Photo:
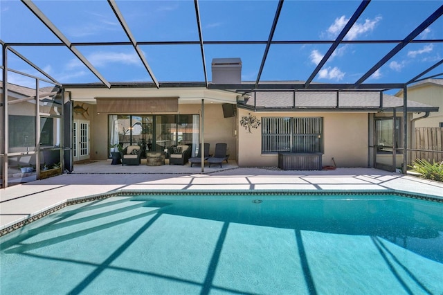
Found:
[[(237, 120), (250, 111), (239, 109)], [(323, 117), (323, 139), (325, 153), (323, 166), (368, 167), (368, 114), (364, 113), (251, 113), (262, 117)], [(278, 166), (278, 154), (262, 154), (261, 127), (252, 133), (239, 127), (239, 161), (241, 167)]]

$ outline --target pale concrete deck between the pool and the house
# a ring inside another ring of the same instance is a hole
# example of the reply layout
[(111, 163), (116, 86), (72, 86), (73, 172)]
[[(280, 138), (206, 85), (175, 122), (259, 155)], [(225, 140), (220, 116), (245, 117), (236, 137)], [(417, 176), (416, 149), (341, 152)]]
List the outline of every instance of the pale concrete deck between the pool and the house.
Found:
[(71, 174), (0, 189), (0, 230), (64, 204), (118, 190), (400, 190), (443, 199), (443, 183), (373, 168), (322, 171), (190, 166), (76, 165)]

